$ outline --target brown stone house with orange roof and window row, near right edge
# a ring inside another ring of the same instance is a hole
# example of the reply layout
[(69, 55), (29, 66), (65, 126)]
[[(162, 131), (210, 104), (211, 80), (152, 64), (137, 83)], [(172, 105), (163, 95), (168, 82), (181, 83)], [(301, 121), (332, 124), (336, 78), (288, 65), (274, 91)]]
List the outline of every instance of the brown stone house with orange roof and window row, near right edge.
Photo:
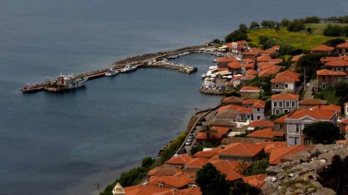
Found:
[(345, 73), (342, 71), (333, 70), (317, 70), (317, 87), (326, 89), (334, 87), (337, 83), (345, 82)]

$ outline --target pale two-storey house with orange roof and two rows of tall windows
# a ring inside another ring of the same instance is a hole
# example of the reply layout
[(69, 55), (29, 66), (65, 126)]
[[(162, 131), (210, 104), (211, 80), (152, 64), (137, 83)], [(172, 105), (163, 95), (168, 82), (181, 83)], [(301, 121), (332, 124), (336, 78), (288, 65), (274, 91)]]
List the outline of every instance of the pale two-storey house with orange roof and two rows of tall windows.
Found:
[(272, 115), (279, 115), (291, 112), (299, 108), (299, 94), (280, 93), (272, 95)]

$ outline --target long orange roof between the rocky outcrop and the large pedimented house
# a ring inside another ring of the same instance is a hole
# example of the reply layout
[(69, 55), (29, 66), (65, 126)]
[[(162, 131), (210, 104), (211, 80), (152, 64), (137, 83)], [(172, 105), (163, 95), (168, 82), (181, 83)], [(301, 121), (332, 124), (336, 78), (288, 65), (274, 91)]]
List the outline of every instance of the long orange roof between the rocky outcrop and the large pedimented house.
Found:
[(279, 148), (274, 149), (271, 151), (271, 155), (269, 157), (269, 164), (271, 165), (277, 165), (281, 163), (281, 159), (289, 154), (296, 154), (300, 151), (305, 151), (309, 148), (312, 148), (311, 146), (304, 146), (304, 145), (297, 145), (297, 146), (290, 146), (285, 148)]

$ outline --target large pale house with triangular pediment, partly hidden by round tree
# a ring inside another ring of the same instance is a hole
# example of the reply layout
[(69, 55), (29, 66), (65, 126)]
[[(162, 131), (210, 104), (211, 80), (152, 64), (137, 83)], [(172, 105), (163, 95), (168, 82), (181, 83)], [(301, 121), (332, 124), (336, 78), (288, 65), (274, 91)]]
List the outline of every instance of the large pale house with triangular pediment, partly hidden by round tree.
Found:
[(306, 125), (320, 121), (331, 122), (336, 125), (337, 111), (309, 108), (305, 110), (293, 110), (289, 113), (285, 118), (287, 146), (312, 145), (311, 140), (306, 138), (302, 130)]

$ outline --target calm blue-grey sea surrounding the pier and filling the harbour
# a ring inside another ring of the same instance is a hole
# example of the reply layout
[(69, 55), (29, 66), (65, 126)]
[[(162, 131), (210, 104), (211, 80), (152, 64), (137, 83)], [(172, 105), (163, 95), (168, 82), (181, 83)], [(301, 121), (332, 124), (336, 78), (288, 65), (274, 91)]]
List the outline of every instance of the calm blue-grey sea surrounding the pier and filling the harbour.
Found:
[(347, 1), (0, 1), (0, 194), (89, 194), (185, 130), (213, 57), (192, 75), (139, 69), (61, 94), (22, 94), (45, 76), (221, 38), (239, 23), (347, 14)]

